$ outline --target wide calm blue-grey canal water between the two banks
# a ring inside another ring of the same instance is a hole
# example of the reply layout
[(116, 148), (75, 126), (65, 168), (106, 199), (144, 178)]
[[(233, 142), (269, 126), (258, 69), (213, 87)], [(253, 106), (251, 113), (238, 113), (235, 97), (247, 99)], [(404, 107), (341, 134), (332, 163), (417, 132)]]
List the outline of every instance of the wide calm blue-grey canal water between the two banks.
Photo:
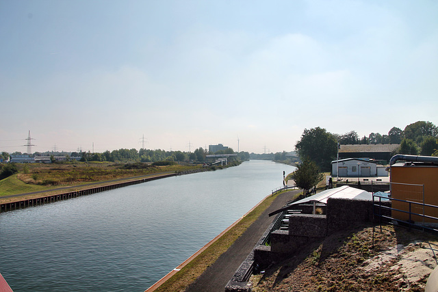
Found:
[(282, 185), (272, 161), (0, 213), (14, 292), (144, 291)]

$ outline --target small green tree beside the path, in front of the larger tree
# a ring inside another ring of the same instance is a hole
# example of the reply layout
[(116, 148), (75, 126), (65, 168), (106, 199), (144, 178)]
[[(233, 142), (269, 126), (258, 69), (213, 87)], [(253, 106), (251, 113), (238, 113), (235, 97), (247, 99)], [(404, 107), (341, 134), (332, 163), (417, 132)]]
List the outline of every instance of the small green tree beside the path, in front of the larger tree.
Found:
[(297, 170), (292, 174), (295, 185), (304, 190), (305, 196), (309, 194), (309, 189), (316, 187), (322, 180), (322, 173), (318, 166), (310, 159), (305, 159), (297, 165)]

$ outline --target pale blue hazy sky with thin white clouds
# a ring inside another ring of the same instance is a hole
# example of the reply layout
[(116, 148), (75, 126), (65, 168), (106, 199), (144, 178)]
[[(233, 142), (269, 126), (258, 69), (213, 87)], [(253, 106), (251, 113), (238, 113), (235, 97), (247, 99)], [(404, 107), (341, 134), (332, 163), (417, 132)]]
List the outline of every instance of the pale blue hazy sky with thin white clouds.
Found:
[(209, 144), (438, 124), (438, 1), (0, 0), (0, 151)]

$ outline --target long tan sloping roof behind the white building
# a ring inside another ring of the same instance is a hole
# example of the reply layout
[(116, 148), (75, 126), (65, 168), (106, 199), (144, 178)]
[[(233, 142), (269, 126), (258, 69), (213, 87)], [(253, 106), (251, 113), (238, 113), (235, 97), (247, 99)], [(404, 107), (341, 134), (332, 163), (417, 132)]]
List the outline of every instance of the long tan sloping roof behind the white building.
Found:
[(400, 144), (353, 144), (341, 145), (339, 159), (370, 158), (386, 164)]

